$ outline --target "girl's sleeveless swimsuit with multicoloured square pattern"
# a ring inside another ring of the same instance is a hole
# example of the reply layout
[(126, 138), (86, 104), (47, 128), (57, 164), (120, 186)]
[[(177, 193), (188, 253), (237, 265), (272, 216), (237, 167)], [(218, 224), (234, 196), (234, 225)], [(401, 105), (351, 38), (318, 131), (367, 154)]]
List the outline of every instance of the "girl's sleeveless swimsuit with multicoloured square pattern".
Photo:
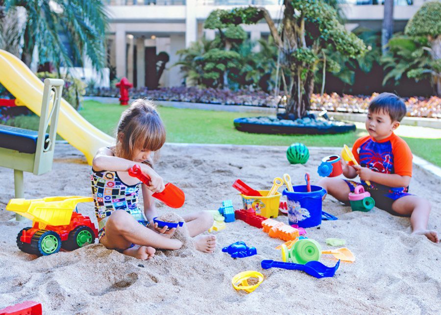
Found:
[(93, 169), (90, 179), (95, 215), (98, 219), (98, 240), (105, 235), (107, 219), (115, 210), (125, 210), (140, 224), (148, 225), (148, 221), (138, 207), (141, 182), (135, 185), (126, 185), (115, 171), (95, 171)]

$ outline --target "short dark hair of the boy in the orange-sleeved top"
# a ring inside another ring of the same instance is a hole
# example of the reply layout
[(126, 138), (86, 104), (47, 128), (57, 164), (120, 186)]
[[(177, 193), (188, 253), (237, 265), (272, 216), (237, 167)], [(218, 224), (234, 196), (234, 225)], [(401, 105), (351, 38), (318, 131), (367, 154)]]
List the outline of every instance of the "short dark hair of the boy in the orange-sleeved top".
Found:
[(368, 111), (378, 113), (384, 111), (392, 121), (401, 121), (406, 116), (406, 105), (402, 98), (393, 93), (381, 93), (370, 101)]

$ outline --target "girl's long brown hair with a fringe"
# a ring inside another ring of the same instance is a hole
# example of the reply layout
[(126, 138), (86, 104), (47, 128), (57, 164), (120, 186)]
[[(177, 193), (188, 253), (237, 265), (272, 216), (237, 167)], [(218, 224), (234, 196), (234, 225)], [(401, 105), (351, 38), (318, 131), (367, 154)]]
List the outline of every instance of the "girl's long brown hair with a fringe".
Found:
[[(164, 124), (155, 105), (138, 98), (121, 115), (118, 123), (115, 155), (132, 160), (135, 149), (158, 151), (166, 141)], [(155, 160), (157, 154), (155, 154)], [(146, 161), (151, 164), (150, 161)]]

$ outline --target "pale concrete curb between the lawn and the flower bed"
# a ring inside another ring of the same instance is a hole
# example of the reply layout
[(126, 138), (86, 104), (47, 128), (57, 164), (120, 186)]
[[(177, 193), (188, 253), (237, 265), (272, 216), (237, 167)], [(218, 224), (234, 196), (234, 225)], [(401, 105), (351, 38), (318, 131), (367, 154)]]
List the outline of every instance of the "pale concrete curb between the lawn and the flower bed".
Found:
[[(85, 100), (97, 100), (102, 103), (118, 103), (117, 97), (84, 97)], [(133, 101), (134, 99), (130, 99)], [(261, 113), (265, 115), (276, 114), (275, 107), (261, 107), (261, 106), (244, 106), (244, 105), (221, 105), (221, 104), (205, 104), (205, 103), (193, 103), (193, 102), (181, 102), (181, 101), (169, 101), (169, 100), (157, 100), (155, 101), (159, 106), (175, 107), (175, 108), (189, 108), (200, 110), (212, 110), (212, 111), (225, 111), (225, 112), (239, 112), (239, 113)], [(329, 117), (333, 117), (342, 121), (357, 121), (364, 122), (365, 114), (358, 113), (340, 113), (340, 112), (328, 112)], [(405, 117), (401, 121), (401, 124), (417, 127), (427, 127), (441, 129), (441, 120), (436, 118), (418, 118), (418, 117)]]

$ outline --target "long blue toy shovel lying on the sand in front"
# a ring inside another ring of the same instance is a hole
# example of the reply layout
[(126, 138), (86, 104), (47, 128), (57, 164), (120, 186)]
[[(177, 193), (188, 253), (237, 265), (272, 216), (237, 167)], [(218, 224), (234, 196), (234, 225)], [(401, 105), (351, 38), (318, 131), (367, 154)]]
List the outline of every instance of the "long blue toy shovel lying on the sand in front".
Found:
[(277, 262), (274, 260), (263, 260), (261, 262), (261, 266), (264, 269), (269, 269), (274, 267), (274, 268), (282, 268), (288, 270), (301, 270), (301, 271), (305, 271), (307, 274), (316, 278), (327, 278), (334, 276), (335, 272), (340, 266), (340, 260), (337, 262), (337, 264), (335, 264), (334, 267), (327, 267), (318, 261), (311, 261), (306, 263), (305, 265), (302, 265), (302, 264), (294, 264), (294, 263)]

